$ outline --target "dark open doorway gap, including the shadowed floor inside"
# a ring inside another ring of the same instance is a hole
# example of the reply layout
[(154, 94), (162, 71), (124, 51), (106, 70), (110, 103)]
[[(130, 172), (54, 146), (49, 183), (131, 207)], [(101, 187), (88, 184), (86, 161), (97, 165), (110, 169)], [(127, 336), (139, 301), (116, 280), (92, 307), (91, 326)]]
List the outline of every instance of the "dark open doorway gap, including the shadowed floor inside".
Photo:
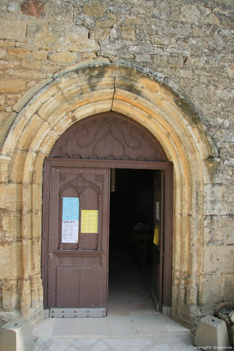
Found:
[(109, 303), (115, 314), (156, 313), (150, 289), (156, 222), (155, 173), (112, 170), (110, 193)]

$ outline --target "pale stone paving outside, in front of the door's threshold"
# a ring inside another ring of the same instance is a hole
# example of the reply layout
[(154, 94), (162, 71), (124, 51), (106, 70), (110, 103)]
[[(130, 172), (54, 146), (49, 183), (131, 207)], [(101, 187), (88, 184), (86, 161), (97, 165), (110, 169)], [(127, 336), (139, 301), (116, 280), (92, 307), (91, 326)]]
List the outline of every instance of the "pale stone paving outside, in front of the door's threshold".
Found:
[(33, 334), (35, 351), (187, 351), (193, 347), (191, 332), (161, 314), (50, 318)]

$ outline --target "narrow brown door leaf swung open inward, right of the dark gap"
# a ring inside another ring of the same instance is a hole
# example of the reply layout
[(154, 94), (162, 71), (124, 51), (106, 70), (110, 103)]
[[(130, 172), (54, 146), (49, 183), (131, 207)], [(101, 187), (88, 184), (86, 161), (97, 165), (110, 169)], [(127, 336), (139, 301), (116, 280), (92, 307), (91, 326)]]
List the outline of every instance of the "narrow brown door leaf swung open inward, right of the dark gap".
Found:
[(157, 312), (162, 311), (164, 255), (164, 171), (154, 173), (154, 245), (151, 294)]

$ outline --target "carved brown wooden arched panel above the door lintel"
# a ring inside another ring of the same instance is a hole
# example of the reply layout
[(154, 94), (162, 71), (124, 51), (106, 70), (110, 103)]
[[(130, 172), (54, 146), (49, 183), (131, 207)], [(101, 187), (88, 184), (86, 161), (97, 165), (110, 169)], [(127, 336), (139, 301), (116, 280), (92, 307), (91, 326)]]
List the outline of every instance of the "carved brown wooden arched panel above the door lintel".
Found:
[(167, 161), (155, 137), (141, 124), (120, 113), (105, 112), (71, 126), (49, 157)]

